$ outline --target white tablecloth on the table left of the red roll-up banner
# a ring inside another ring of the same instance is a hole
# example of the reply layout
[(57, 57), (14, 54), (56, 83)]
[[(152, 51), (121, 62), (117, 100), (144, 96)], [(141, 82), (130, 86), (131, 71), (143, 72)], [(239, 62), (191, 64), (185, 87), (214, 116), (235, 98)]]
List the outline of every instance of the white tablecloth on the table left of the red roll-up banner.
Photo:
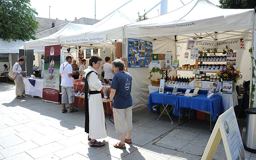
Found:
[[(36, 80), (35, 86), (33, 86), (28, 79)], [(36, 78), (24, 78), (25, 94), (30, 96), (38, 96), (42, 98), (43, 95), (43, 79)]]

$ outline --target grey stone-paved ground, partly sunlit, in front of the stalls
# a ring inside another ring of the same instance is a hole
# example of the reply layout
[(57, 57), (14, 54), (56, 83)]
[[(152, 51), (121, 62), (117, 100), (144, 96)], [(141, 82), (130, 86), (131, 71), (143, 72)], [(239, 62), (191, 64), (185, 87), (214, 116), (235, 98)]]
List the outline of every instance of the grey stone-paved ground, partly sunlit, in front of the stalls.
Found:
[[(146, 105), (133, 108), (132, 144), (117, 149), (114, 124), (106, 116), (106, 145), (90, 147), (84, 132), (84, 110), (61, 113), (62, 106), (40, 98), (15, 98), (15, 86), (0, 83), (0, 160), (200, 160), (210, 138), (210, 123), (152, 113)], [(245, 122), (239, 121), (239, 128)], [(214, 123), (212, 123), (212, 128)], [(256, 154), (246, 151), (248, 160)], [(225, 160), (220, 142), (214, 160)]]

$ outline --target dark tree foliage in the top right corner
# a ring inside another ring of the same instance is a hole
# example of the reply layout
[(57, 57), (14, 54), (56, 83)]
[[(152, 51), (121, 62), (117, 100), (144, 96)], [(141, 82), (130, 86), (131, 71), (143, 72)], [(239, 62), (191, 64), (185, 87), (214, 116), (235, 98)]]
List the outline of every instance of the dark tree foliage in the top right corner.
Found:
[(219, 0), (220, 8), (227, 9), (255, 9), (256, 0)]

